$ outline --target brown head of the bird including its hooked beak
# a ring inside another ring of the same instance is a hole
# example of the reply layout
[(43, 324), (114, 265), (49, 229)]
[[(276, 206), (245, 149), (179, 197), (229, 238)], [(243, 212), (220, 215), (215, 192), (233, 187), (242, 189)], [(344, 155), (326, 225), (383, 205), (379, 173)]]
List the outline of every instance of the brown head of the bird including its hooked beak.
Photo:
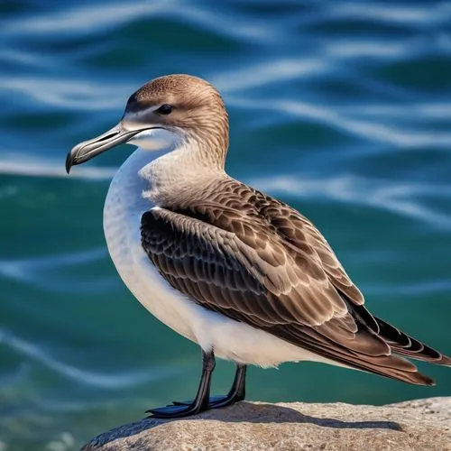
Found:
[(224, 165), (228, 117), (223, 99), (202, 78), (155, 78), (128, 99), (119, 124), (69, 152), (66, 170), (122, 143), (161, 150), (184, 142), (195, 143), (205, 156)]

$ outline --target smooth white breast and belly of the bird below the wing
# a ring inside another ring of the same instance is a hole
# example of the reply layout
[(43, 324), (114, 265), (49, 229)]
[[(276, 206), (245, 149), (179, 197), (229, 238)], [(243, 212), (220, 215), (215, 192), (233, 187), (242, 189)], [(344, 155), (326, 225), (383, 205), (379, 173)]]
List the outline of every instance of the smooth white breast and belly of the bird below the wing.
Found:
[(276, 336), (198, 306), (161, 277), (141, 245), (141, 216), (154, 206), (142, 197), (143, 189), (149, 187), (138, 171), (150, 162), (150, 156), (138, 149), (124, 162), (111, 182), (104, 209), (108, 251), (135, 298), (180, 335), (204, 350), (213, 348), (218, 357), (227, 360), (263, 367), (300, 360), (331, 363)]

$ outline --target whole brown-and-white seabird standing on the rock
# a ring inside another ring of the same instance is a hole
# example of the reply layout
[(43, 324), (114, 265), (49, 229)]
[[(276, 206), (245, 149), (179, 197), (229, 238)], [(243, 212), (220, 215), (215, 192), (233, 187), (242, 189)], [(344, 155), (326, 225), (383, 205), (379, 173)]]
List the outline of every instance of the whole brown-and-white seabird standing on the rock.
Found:
[[(108, 251), (143, 307), (202, 355), (194, 400), (150, 417), (244, 400), (248, 365), (313, 361), (419, 385), (435, 382), (408, 358), (451, 365), (370, 313), (306, 216), (226, 173), (229, 120), (212, 84), (185, 74), (152, 79), (114, 128), (68, 153), (68, 174), (123, 143), (138, 148), (106, 195)], [(235, 378), (228, 393), (210, 396), (216, 357), (235, 363)]]

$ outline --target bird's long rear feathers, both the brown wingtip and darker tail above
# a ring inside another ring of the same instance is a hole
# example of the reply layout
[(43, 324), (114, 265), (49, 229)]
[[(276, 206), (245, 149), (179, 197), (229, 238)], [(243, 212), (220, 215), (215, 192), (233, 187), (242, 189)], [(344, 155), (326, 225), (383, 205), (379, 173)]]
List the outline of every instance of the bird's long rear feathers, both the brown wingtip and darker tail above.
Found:
[(435, 382), (404, 357), (451, 366), (451, 358), (404, 334), (363, 306), (348, 303), (350, 315), (315, 327), (283, 324), (272, 334), (329, 362), (417, 385)]

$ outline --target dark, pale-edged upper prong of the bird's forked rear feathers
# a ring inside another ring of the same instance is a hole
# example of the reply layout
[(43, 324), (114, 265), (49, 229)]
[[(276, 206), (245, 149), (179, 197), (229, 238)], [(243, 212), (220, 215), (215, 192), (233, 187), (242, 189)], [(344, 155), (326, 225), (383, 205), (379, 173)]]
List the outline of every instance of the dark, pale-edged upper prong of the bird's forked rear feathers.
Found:
[[(422, 360), (430, 364), (451, 366), (451, 358), (439, 353), (436, 349), (419, 342), (412, 336), (408, 336), (397, 327), (391, 326), (380, 318), (373, 317), (379, 328), (380, 336), (391, 350), (400, 355), (405, 355), (415, 360)], [(374, 331), (376, 332), (376, 331)]]

